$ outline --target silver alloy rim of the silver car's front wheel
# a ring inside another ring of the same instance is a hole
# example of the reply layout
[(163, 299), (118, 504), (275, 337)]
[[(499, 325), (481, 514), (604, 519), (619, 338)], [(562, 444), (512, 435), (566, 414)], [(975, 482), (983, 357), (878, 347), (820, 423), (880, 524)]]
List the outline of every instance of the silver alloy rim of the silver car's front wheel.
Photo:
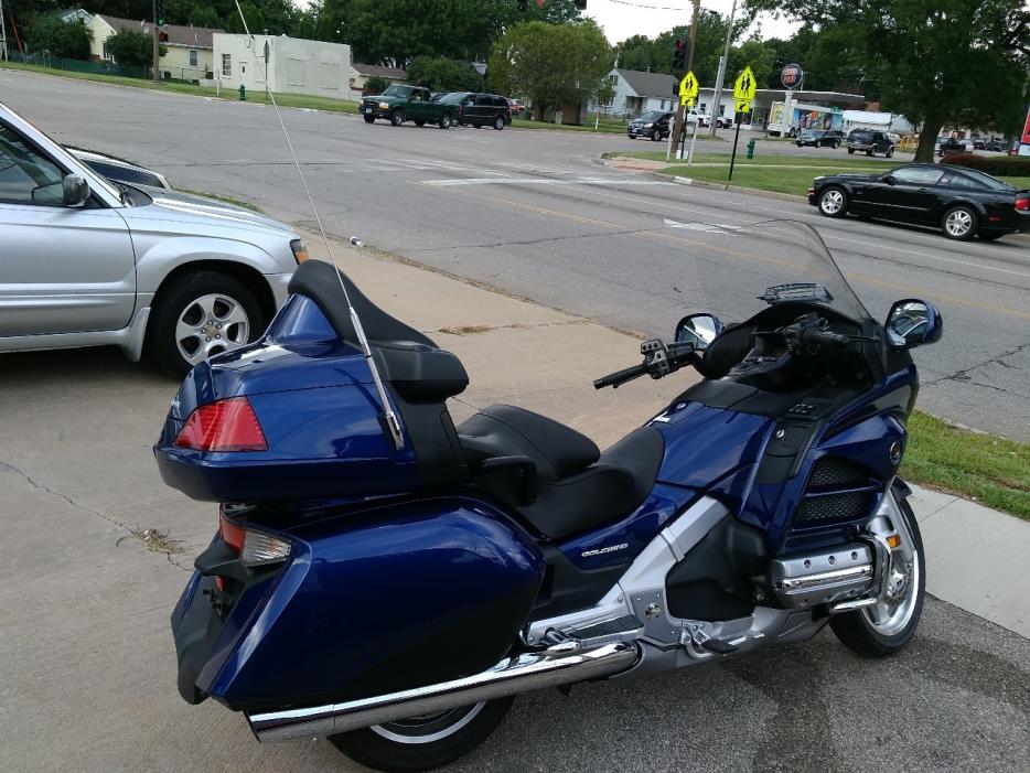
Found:
[(186, 303), (175, 323), (175, 347), (191, 365), (239, 348), (250, 340), (250, 318), (239, 301), (221, 292)]

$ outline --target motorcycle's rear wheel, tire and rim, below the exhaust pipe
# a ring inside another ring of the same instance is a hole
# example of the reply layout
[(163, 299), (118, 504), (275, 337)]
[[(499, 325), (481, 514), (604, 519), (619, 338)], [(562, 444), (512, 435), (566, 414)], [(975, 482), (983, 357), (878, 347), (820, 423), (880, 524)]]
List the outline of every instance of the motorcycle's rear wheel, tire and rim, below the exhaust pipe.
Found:
[(374, 724), (330, 736), (330, 742), (355, 762), (377, 771), (411, 773), (453, 762), (494, 731), (514, 698)]

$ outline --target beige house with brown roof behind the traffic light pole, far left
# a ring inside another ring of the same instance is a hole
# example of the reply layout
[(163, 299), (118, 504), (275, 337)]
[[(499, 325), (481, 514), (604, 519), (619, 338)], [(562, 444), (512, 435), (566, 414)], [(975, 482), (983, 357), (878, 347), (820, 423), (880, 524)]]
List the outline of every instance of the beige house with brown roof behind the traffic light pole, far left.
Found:
[[(150, 34), (149, 21), (132, 21), (119, 19), (106, 13), (95, 13), (86, 22), (93, 30), (90, 56), (96, 61), (112, 62), (114, 57), (107, 51), (107, 39), (119, 30), (132, 30)], [(208, 30), (202, 26), (182, 26), (168, 24), (164, 28), (168, 42), (162, 43), (167, 53), (159, 60), (161, 77), (176, 80), (206, 80), (214, 74), (214, 50), (212, 37), (218, 30)], [(117, 63), (116, 63), (117, 64)]]

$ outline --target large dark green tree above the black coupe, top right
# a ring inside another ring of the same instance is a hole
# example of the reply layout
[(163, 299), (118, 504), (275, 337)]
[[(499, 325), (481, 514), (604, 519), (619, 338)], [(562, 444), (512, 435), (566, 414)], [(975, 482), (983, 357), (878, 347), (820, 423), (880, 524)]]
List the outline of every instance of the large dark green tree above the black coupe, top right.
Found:
[(1030, 8), (1023, 0), (749, 0), (836, 28), (877, 66), (883, 107), (921, 124), (918, 161), (946, 125), (1015, 132), (1030, 89)]

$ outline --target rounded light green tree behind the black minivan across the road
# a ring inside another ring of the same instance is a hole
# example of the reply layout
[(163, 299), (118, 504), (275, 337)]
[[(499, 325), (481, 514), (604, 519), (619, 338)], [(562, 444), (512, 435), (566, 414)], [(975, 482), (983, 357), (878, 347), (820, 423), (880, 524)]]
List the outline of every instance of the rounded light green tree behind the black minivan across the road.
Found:
[(526, 96), (537, 120), (549, 110), (586, 104), (612, 68), (612, 49), (592, 21), (512, 26), (490, 56), (491, 88)]

